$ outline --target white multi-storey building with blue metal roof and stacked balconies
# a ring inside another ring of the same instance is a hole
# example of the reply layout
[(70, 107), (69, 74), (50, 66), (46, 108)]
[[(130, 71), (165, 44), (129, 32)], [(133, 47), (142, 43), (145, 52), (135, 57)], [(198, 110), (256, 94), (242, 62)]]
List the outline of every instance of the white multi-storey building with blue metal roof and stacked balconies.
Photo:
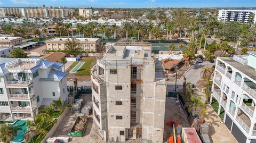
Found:
[(0, 58), (0, 120), (33, 120), (40, 106), (49, 106), (68, 91), (63, 64), (42, 58)]

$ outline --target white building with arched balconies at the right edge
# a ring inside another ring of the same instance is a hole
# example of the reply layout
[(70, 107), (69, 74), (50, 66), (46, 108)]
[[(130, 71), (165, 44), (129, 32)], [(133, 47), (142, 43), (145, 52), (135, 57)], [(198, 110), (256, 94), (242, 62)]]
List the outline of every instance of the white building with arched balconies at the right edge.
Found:
[(217, 58), (211, 95), (239, 143), (256, 142), (256, 52), (248, 53)]

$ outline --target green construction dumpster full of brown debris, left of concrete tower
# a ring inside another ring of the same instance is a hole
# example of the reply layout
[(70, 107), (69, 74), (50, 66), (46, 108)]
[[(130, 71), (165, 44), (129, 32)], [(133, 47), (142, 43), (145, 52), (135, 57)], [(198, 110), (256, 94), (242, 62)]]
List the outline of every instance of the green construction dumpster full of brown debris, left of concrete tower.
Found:
[(71, 137), (82, 137), (83, 132), (86, 129), (86, 125), (87, 125), (87, 117), (86, 116), (85, 117), (78, 116), (73, 128), (70, 131), (70, 136)]

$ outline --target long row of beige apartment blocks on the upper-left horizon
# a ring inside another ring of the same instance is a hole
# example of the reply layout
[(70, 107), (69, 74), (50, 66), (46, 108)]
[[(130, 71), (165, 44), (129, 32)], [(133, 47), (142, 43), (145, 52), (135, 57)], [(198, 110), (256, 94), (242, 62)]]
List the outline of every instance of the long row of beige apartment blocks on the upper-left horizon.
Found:
[(21, 15), (28, 18), (66, 18), (73, 15), (73, 9), (46, 9), (42, 8), (1, 8), (0, 16)]

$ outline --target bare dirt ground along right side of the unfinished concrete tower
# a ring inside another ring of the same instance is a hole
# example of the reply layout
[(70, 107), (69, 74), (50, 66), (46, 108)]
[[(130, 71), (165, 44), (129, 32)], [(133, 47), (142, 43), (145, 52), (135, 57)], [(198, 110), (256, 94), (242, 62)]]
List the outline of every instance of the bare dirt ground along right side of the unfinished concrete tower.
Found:
[(174, 120), (179, 122), (179, 126), (183, 128), (190, 127), (186, 113), (180, 110), (180, 107), (175, 103), (174, 98), (167, 97), (165, 104), (165, 122), (164, 122), (164, 142), (167, 142), (167, 139), (170, 136), (173, 136), (172, 127), (167, 127), (166, 122), (168, 120)]

